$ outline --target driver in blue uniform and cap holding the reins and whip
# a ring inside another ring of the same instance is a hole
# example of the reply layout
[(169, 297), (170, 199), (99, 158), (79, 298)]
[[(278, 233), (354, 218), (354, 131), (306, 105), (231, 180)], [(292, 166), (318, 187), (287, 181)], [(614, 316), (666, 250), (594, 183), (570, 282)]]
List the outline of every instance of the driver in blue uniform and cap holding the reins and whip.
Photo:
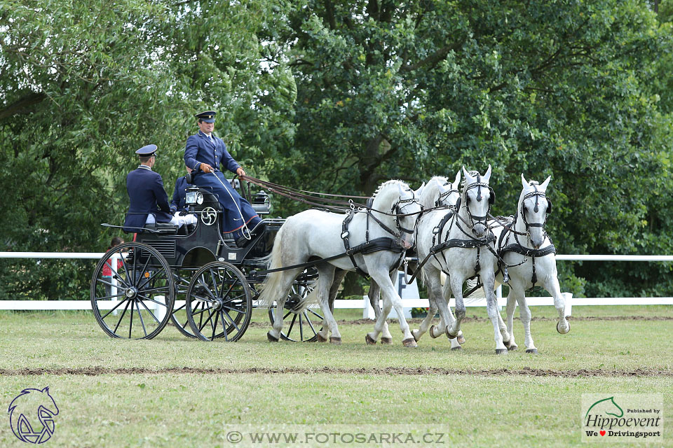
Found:
[(224, 141), (212, 134), (215, 128), (215, 111), (197, 113), (195, 117), (198, 118), (199, 130), (187, 139), (184, 165), (194, 171), (194, 185), (208, 187), (217, 196), (224, 210), (222, 232), (233, 232), (236, 245), (242, 247), (251, 237), (262, 232), (264, 223), (250, 203), (240, 197), (219, 170), (219, 166), (223, 165), (230, 172), (245, 176), (243, 168), (226, 151)]

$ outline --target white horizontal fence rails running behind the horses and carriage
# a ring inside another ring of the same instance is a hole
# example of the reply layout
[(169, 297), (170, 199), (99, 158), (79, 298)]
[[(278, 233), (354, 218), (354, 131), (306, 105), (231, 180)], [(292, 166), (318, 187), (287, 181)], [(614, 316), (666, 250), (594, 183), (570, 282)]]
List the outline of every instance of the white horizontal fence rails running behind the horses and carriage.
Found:
[[(79, 259), (79, 260), (100, 260), (103, 252), (0, 252), (0, 258), (37, 258), (37, 259)], [(673, 255), (556, 255), (557, 260), (569, 261), (647, 261), (662, 262), (673, 261)], [(88, 289), (88, 285), (86, 285)], [(566, 298), (572, 295), (566, 295)], [(0, 297), (1, 298), (1, 297)], [(531, 306), (553, 305), (552, 297), (526, 297)], [(427, 299), (405, 298), (403, 300), (405, 308), (428, 307)], [(453, 299), (449, 302), (453, 306)], [(505, 305), (503, 297), (498, 298), (500, 306)], [(574, 306), (594, 306), (594, 305), (673, 305), (673, 297), (587, 297), (572, 300)], [(112, 302), (110, 307), (112, 307)], [(176, 301), (175, 306), (179, 307), (182, 302)], [(468, 307), (484, 307), (486, 300), (477, 300), (466, 304)], [(334, 308), (337, 309), (363, 309), (365, 315), (369, 302), (365, 297), (363, 300), (335, 300)], [(0, 300), (0, 309), (12, 310), (67, 310), (67, 309), (91, 309), (89, 300)]]

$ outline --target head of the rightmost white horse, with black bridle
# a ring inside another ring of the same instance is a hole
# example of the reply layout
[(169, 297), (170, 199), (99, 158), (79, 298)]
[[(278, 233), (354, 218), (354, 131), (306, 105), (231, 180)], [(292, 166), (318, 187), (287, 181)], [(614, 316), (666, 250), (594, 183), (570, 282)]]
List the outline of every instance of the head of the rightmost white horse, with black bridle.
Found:
[(549, 176), (543, 183), (536, 181), (526, 181), (524, 175), (521, 175), (522, 190), (519, 196), (518, 211), (521, 215), (526, 233), (528, 233), (533, 248), (540, 248), (547, 238), (545, 232), (545, 223), (547, 216), (552, 211), (552, 202), (545, 195), (549, 181)]

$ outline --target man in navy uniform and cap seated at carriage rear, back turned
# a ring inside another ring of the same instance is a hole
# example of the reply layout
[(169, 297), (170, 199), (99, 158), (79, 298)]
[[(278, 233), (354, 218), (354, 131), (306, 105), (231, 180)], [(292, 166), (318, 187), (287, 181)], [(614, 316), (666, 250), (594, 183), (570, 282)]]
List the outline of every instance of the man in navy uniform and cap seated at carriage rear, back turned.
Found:
[(146, 224), (152, 223), (179, 225), (170, 214), (168, 195), (163, 189), (161, 175), (152, 171), (156, 161), (156, 145), (143, 146), (135, 153), (140, 158), (140, 165), (126, 176), (130, 205), (123, 230), (142, 232)]

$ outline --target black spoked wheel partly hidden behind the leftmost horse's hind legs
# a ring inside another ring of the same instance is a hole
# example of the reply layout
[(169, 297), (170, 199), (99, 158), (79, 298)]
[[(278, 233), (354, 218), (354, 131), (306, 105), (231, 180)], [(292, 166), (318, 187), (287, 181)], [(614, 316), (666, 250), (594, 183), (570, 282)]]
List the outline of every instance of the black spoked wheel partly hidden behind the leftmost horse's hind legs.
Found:
[[(289, 318), (290, 326), (287, 327), (287, 332), (280, 332), (281, 339), (292, 342), (315, 342), (318, 339), (318, 332), (322, 330), (322, 316), (313, 308), (300, 311), (301, 305), (314, 287), (315, 280), (297, 280), (292, 283), (292, 290), (283, 307), (283, 321)], [(275, 312), (275, 307), (268, 309), (268, 318), (272, 324)]]

